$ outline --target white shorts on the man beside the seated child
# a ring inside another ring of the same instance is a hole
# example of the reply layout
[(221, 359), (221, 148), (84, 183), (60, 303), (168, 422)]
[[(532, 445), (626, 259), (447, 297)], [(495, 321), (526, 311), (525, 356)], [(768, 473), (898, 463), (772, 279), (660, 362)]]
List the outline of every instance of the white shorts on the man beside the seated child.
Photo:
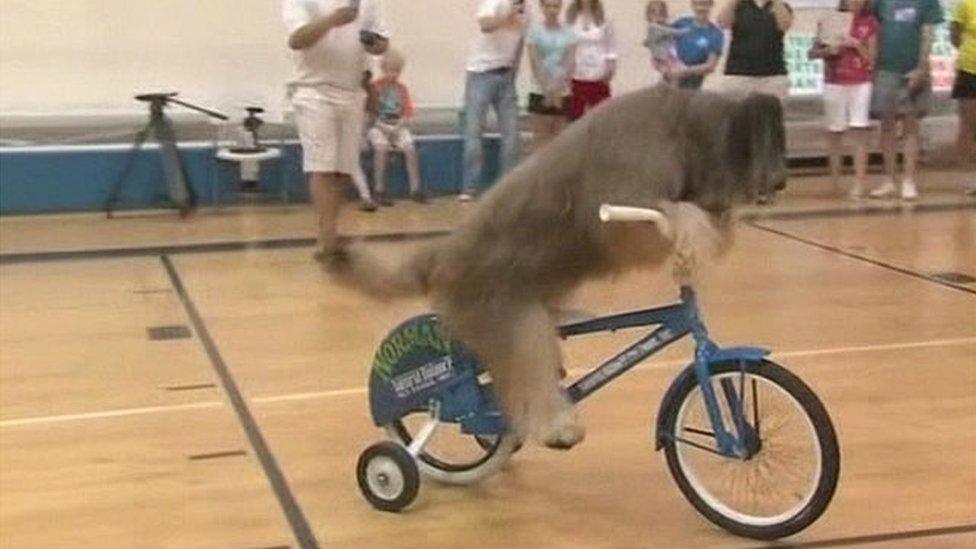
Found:
[(355, 173), (363, 139), (364, 100), (363, 92), (333, 97), (313, 88), (295, 91), (291, 102), (306, 173)]

